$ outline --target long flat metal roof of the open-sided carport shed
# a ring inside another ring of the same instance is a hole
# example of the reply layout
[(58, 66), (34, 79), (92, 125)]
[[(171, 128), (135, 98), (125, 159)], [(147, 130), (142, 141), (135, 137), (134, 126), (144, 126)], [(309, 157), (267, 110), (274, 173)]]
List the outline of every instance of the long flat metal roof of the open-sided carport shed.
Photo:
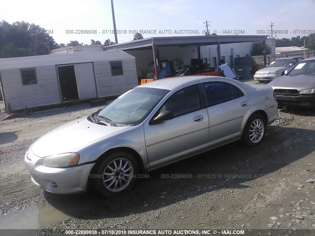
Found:
[(226, 43), (244, 43), (255, 41), (266, 41), (267, 35), (198, 35), (198, 36), (172, 36), (172, 37), (152, 37), (133, 40), (126, 43), (105, 45), (107, 50), (128, 50), (152, 47), (177, 47), (177, 46), (206, 46), (214, 45), (220, 42)]

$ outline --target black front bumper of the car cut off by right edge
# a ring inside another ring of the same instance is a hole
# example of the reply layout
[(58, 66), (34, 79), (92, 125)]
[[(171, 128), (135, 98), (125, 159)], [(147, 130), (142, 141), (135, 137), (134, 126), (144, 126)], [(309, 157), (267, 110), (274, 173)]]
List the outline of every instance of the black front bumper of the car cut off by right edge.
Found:
[(279, 106), (312, 107), (315, 106), (315, 94), (276, 93)]

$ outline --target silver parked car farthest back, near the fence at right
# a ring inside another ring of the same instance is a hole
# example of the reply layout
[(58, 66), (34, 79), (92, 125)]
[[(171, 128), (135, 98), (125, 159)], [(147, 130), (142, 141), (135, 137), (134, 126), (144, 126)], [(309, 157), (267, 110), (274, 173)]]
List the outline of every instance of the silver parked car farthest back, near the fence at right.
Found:
[(282, 58), (272, 61), (267, 67), (256, 71), (254, 80), (258, 82), (270, 82), (284, 75), (285, 70), (289, 70), (304, 58)]

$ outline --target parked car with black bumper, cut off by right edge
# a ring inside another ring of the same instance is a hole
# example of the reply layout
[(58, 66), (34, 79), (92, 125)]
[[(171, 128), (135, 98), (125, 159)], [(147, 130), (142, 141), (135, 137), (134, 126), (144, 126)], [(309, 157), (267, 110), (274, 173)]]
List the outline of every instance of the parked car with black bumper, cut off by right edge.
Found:
[(315, 58), (304, 59), (268, 84), (280, 106), (315, 106)]

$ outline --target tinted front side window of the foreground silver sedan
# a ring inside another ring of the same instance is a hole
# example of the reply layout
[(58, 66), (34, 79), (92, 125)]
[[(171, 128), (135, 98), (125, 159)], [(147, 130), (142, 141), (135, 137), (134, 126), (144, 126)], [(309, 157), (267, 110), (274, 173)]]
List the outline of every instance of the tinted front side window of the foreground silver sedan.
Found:
[(198, 85), (192, 85), (178, 90), (171, 95), (163, 104), (159, 112), (170, 111), (173, 113), (174, 117), (179, 117), (200, 109), (201, 100)]

